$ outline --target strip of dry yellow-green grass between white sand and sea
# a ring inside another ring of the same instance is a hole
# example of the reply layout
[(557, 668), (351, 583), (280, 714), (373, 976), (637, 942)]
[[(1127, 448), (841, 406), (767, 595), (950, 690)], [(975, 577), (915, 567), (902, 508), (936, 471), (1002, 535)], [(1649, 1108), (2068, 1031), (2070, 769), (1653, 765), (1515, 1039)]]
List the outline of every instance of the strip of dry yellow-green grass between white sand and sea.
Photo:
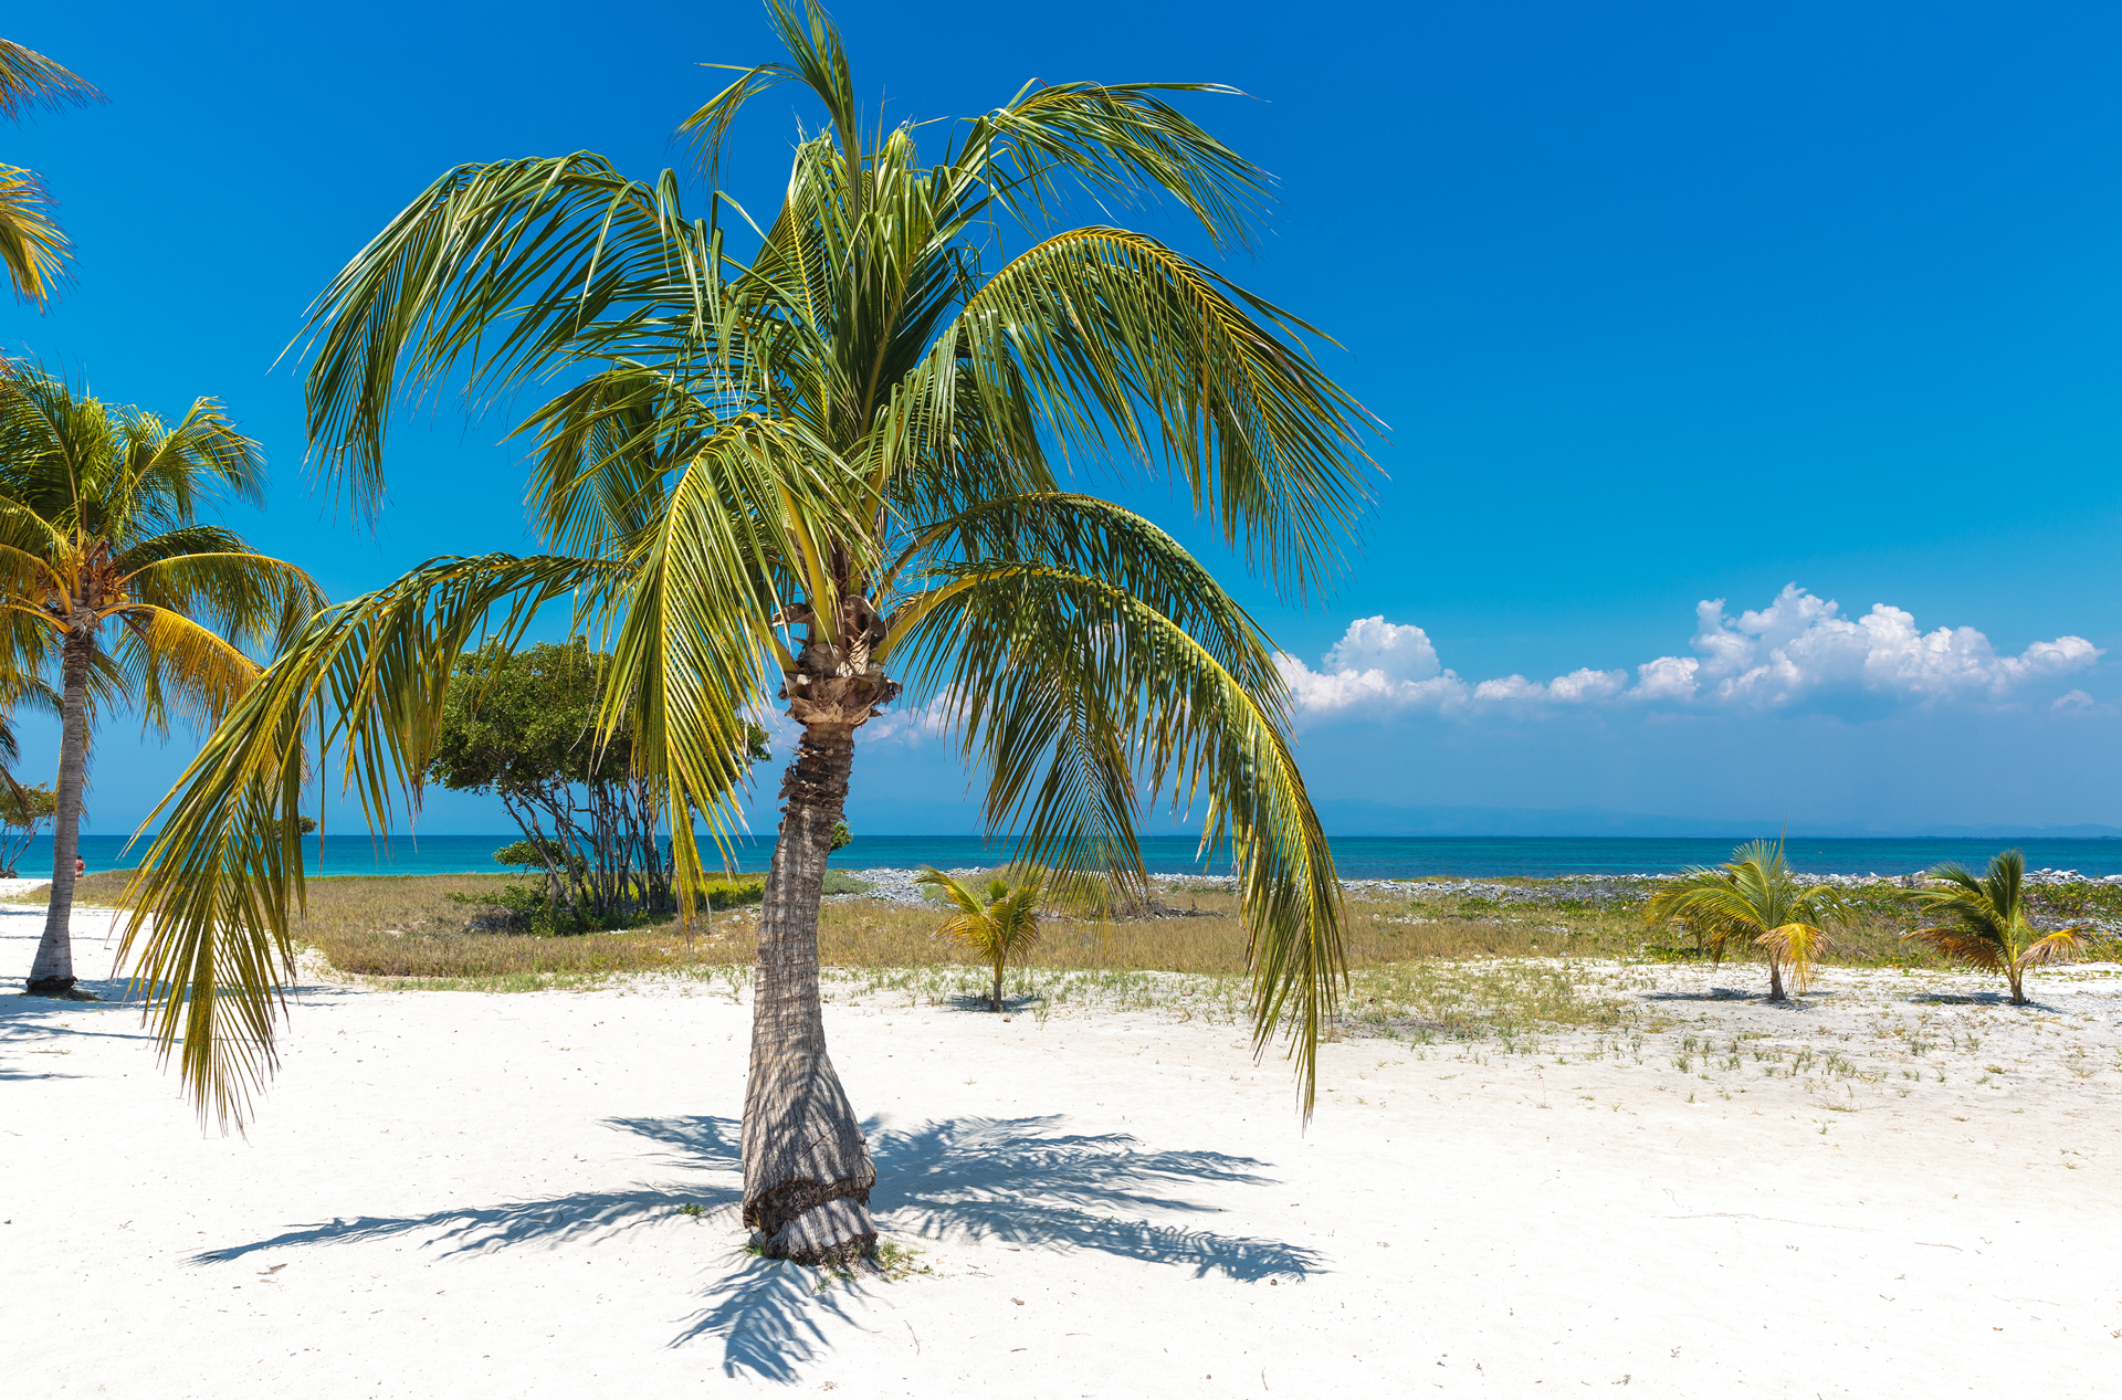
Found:
[[(944, 938), (944, 910), (915, 893), (915, 872), (876, 870), (845, 880), (819, 914), (828, 995), (906, 995), (910, 1003), (989, 1003), (991, 969)], [(972, 874), (972, 872), (961, 872)], [(987, 872), (978, 872), (987, 874)], [(117, 908), (129, 872), (81, 880), (83, 904)], [(310, 882), (308, 914), (293, 921), (308, 978), (386, 991), (586, 991), (651, 974), (743, 997), (758, 950), (760, 876), (719, 882), (730, 906), (679, 921), (596, 933), (494, 931), (507, 874), (327, 876)], [(1683, 931), (1649, 929), (1642, 908), (1659, 878), (1350, 880), (1350, 984), (1328, 1039), (1500, 1039), (1504, 1048), (1549, 1031), (1653, 1029), (1655, 1012), (1630, 995), (1659, 967), (1712, 974), (1717, 997), (1766, 991), (1759, 959), (1721, 961)], [(1912, 880), (1838, 880), (1855, 910), (1821, 955), (1825, 969), (1965, 976), (1937, 950), (1906, 940), (1918, 927)], [(13, 895), (36, 904), (47, 887)], [(715, 899), (724, 904), (724, 899)], [(2094, 880), (2031, 882), (2037, 925), (2090, 925), (2088, 959), (2122, 957), (2122, 887)], [(1004, 1010), (1044, 1018), (1063, 1008), (1178, 1010), (1246, 1018), (1246, 929), (1229, 880), (1161, 878), (1152, 906), (1131, 918), (1042, 916), (1044, 933), (1004, 986)], [(2043, 972), (2054, 978), (2058, 972)], [(1757, 982), (1761, 986), (1757, 986)]]

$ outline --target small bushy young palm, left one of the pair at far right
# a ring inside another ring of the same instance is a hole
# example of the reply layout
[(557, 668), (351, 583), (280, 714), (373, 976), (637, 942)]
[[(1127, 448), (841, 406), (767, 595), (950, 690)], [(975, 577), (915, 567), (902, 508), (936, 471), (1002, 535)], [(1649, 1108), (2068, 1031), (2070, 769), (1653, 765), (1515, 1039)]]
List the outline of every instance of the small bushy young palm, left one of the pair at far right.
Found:
[(1831, 885), (1799, 885), (1782, 859), (1782, 842), (1749, 842), (1723, 865), (1691, 865), (1645, 906), (1651, 927), (1679, 923), (1700, 931), (1719, 955), (1732, 938), (1744, 938), (1768, 957), (1768, 999), (1782, 1001), (1782, 967), (1804, 995), (1812, 967), (1827, 948), (1823, 925), (1848, 918), (1846, 902)]

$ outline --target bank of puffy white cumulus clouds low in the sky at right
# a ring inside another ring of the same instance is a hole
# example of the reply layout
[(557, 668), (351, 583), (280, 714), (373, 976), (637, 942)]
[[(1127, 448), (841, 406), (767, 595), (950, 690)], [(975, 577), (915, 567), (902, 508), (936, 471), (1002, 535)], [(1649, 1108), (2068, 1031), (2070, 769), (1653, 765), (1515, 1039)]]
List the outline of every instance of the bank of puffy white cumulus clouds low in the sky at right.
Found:
[[(1294, 655), (1277, 666), (1299, 713), (1471, 713), (1655, 704), (1664, 708), (1791, 711), (1850, 700), (1867, 704), (2007, 702), (2090, 668), (2101, 649), (2084, 636), (2033, 643), (1999, 655), (1976, 628), (1923, 632), (1916, 617), (1876, 602), (1844, 617), (1831, 598), (1795, 583), (1763, 609), (1725, 615), (1723, 598), (1695, 605), (1695, 655), (1662, 655), (1625, 670), (1581, 668), (1551, 681), (1521, 675), (1464, 681), (1447, 670), (1428, 634), (1409, 624), (1360, 617), (1314, 670)], [(2090, 704), (2071, 692), (2056, 708)]]

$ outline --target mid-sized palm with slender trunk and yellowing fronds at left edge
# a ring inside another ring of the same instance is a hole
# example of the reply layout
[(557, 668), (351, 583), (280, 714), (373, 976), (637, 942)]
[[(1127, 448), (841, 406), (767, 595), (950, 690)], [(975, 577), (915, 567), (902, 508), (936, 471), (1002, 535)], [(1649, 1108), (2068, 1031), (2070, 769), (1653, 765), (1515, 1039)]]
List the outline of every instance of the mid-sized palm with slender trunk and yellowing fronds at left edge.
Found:
[(265, 465), (221, 405), (174, 424), (0, 363), (0, 613), (17, 670), (59, 683), (51, 908), (30, 995), (76, 997), (68, 923), (95, 711), (134, 704), (208, 725), (259, 675), (244, 647), (278, 647), (323, 602), (301, 568), (265, 558), (202, 507), (261, 501)]

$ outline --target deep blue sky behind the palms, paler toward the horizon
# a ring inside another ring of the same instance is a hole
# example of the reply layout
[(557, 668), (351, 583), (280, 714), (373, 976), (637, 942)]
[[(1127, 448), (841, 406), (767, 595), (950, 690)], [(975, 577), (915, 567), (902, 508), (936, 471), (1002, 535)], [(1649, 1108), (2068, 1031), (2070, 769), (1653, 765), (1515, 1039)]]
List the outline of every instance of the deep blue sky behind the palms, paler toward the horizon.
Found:
[[(1190, 104), (1282, 180), (1263, 252), (1227, 272), (1333, 331), (1345, 352), (1326, 365), (1392, 424), (1390, 479), (1326, 607), (1282, 607), (1210, 552), (1320, 677), (1379, 615), (1424, 628), (1468, 683), (1621, 668), (1636, 685), (1653, 658), (1704, 655), (1700, 600), (1736, 619), (1787, 583), (1844, 617), (1886, 602), (1925, 634), (1973, 628), (1999, 655), (2122, 643), (2111, 6), (834, 13), (893, 117), (976, 112), (1033, 76), (1258, 98)], [(223, 397), (276, 473), (269, 513), (233, 524), (333, 596), (433, 554), (524, 547), (522, 469), (494, 445), (505, 420), (446, 403), (403, 420), (380, 530), (335, 520), (308, 492), (299, 378), (274, 369), (310, 297), (448, 165), (592, 148), (651, 174), (719, 85), (694, 64), (772, 55), (749, 0), (85, 0), (4, 34), (110, 102), (0, 129), (0, 159), (45, 174), (81, 255), (51, 314), (0, 305), (0, 344), (106, 399)], [(781, 89), (745, 121), (726, 182), (755, 210), (798, 117), (815, 121)], [(1169, 494), (1144, 501), (1184, 524)], [(1774, 668), (1774, 641), (1744, 664)], [(1774, 694), (1676, 702), (1454, 706), (1405, 689), (1428, 668), (1386, 664), (1381, 698), (1305, 713), (1303, 753), (1322, 798), (1392, 804), (2122, 823), (2118, 662), (2029, 677), (1976, 651), (1956, 679), (1844, 655)], [(49, 734), (28, 728), (40, 774)], [(98, 829), (140, 819), (187, 747), (112, 725)], [(961, 789), (946, 745), (885, 738), (853, 815), (963, 827)], [(450, 800), (429, 825), (503, 823)]]

